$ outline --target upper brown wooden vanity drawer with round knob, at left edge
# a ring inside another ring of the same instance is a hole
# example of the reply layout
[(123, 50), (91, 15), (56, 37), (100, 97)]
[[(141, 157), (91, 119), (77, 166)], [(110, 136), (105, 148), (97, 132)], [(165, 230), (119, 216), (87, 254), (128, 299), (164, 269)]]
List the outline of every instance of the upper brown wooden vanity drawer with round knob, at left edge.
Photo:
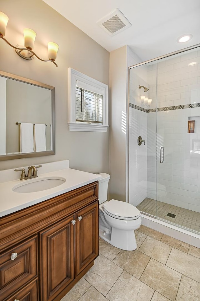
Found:
[[(12, 257), (13, 260), (11, 259)], [(1, 254), (0, 301), (10, 296), (36, 276), (37, 236), (34, 236)]]

